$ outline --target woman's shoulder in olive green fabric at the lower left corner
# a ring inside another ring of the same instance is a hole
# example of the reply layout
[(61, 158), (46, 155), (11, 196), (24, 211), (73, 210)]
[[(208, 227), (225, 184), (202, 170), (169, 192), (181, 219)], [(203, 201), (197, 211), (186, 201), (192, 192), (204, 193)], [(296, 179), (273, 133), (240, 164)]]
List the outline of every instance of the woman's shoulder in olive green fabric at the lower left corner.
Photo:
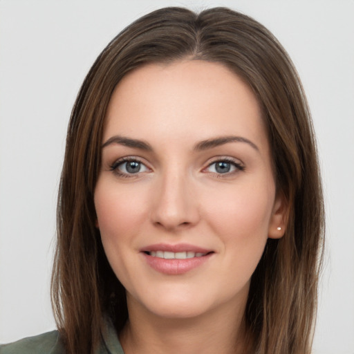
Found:
[(64, 346), (57, 330), (0, 345), (0, 354), (63, 354)]

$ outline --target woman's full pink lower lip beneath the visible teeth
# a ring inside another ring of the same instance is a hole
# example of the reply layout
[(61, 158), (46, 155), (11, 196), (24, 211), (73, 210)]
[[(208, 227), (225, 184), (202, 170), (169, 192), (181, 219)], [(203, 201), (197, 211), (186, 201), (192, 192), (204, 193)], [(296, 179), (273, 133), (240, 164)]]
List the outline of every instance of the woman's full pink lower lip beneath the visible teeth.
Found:
[(213, 253), (206, 254), (202, 257), (193, 257), (187, 259), (165, 259), (159, 257), (152, 257), (149, 254), (142, 253), (145, 260), (151, 268), (163, 274), (185, 274), (190, 270), (196, 269), (203, 265), (212, 257)]

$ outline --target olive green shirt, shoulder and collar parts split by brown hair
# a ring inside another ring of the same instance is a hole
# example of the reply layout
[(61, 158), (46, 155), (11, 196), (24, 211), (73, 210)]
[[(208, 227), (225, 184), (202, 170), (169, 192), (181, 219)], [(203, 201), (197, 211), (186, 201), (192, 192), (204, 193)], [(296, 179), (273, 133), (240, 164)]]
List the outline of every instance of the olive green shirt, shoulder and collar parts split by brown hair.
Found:
[[(0, 354), (64, 354), (64, 346), (57, 330), (0, 345)], [(80, 353), (81, 354), (81, 353)], [(100, 348), (95, 354), (124, 354), (111, 322), (106, 322)]]

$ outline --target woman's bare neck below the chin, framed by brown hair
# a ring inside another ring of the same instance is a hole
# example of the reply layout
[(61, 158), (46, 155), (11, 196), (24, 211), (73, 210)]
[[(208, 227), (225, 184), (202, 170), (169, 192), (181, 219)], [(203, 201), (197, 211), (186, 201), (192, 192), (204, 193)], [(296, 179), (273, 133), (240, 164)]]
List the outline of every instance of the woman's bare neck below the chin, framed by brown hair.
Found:
[(130, 304), (129, 322), (120, 333), (125, 354), (245, 353), (245, 306), (223, 306), (191, 318), (166, 318)]

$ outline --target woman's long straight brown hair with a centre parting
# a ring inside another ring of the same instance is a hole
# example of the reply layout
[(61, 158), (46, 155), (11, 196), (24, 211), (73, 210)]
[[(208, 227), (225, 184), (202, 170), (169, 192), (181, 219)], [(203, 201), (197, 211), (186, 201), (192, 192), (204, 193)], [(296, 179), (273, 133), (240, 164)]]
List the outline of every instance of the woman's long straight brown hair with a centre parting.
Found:
[(224, 64), (257, 96), (268, 127), (277, 193), (288, 202), (281, 239), (268, 239), (252, 275), (245, 324), (253, 352), (310, 353), (324, 240), (324, 206), (313, 126), (286, 51), (254, 19), (227, 8), (196, 14), (163, 8), (125, 28), (97, 57), (68, 126), (57, 207), (52, 301), (68, 353), (93, 353), (104, 316), (118, 332), (125, 291), (95, 227), (104, 117), (113, 89), (138, 66), (178, 59)]

